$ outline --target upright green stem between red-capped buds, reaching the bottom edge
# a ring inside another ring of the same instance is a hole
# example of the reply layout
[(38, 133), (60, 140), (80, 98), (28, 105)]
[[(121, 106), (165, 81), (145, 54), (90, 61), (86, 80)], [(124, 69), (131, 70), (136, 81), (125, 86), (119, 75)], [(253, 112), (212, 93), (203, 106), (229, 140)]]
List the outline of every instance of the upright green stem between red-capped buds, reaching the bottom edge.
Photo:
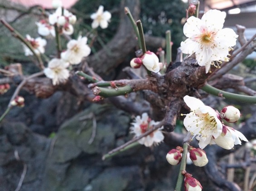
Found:
[(188, 143), (185, 142), (183, 145), (183, 153), (182, 153), (182, 159), (181, 159), (180, 168), (179, 168), (179, 176), (178, 176), (178, 180), (177, 180), (174, 191), (181, 191), (181, 187), (184, 179), (181, 172), (186, 170), (187, 153), (188, 153)]

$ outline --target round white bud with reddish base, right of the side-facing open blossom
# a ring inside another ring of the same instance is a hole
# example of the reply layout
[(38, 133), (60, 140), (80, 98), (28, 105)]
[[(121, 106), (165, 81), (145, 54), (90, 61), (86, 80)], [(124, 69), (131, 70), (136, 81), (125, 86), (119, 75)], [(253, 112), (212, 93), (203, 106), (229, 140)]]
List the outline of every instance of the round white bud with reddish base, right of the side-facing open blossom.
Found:
[(221, 113), (224, 113), (223, 119), (230, 123), (237, 122), (241, 116), (240, 111), (234, 106), (223, 107)]

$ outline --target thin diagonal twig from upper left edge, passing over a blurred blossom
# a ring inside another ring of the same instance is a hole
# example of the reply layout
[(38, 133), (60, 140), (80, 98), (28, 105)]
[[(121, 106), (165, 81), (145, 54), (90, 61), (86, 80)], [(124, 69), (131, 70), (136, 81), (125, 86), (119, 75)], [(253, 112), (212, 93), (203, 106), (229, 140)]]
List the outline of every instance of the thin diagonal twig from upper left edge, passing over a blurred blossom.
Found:
[(28, 48), (29, 50), (33, 53), (33, 55), (37, 58), (38, 62), (39, 62), (39, 68), (44, 69), (44, 65), (43, 65), (43, 61), (40, 55), (36, 54), (34, 51), (34, 48), (32, 47), (32, 45), (26, 41), (26, 39), (18, 32), (16, 31), (9, 23), (7, 23), (4, 19), (1, 19), (1, 23), (10, 30), (11, 34), (18, 38), (21, 42), (23, 42)]

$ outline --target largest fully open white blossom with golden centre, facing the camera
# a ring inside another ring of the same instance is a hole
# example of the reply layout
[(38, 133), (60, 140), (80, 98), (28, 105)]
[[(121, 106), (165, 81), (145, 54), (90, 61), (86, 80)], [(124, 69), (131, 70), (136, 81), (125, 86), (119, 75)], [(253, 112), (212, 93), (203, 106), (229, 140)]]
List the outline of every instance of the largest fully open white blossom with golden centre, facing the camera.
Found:
[(213, 9), (202, 19), (189, 17), (184, 24), (183, 32), (188, 39), (181, 42), (181, 50), (184, 54), (195, 53), (198, 65), (205, 66), (206, 73), (211, 64), (215, 65), (213, 61), (227, 61), (230, 47), (236, 45), (238, 36), (233, 29), (223, 28), (224, 21), (225, 14)]

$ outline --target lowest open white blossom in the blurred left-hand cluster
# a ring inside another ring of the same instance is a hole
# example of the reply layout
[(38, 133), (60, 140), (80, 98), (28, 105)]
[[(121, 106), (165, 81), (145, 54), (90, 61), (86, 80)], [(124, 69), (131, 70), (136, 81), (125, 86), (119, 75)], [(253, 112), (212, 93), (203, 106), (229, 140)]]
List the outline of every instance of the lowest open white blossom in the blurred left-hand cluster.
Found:
[(53, 58), (48, 63), (48, 67), (43, 70), (46, 77), (52, 79), (53, 85), (64, 83), (69, 77), (69, 63), (62, 59)]

